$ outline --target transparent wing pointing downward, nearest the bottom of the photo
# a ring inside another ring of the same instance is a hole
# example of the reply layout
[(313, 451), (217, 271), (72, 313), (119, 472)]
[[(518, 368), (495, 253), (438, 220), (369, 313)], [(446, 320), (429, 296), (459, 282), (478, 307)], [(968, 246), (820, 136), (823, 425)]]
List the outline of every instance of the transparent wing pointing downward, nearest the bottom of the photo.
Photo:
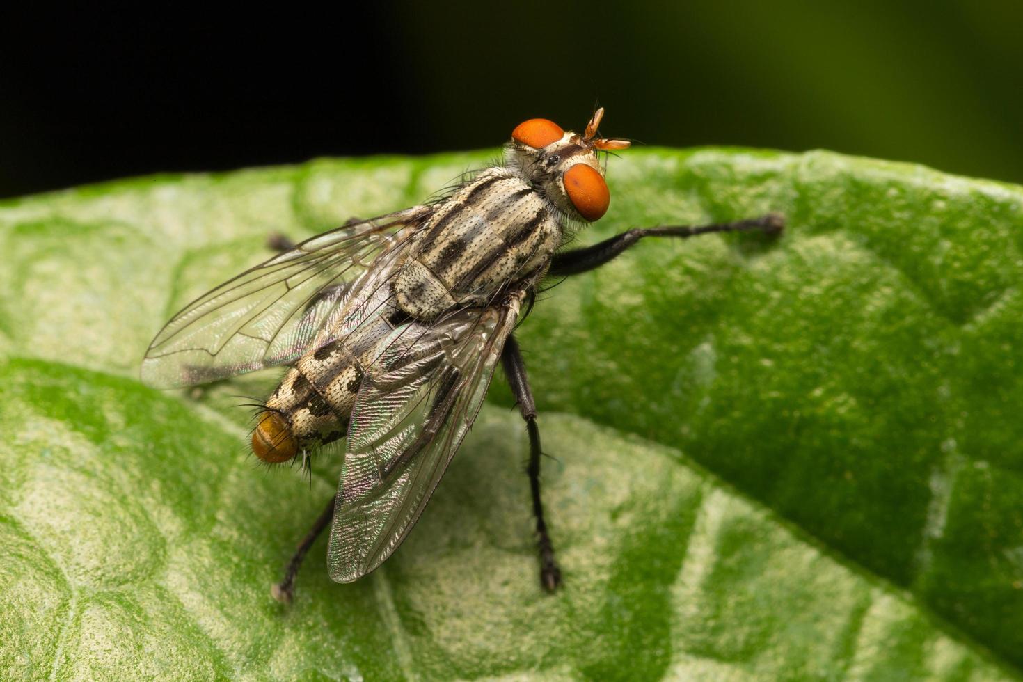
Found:
[(397, 549), (490, 385), (521, 297), (396, 328), (362, 378), (330, 527), (330, 577), (364, 576)]

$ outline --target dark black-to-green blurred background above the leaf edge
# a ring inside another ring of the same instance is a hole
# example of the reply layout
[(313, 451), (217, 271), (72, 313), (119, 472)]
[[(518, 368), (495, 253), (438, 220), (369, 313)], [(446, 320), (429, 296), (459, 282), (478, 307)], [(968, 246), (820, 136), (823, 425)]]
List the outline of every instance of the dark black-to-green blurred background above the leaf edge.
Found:
[(0, 17), (0, 196), (493, 147), (520, 121), (1023, 182), (1023, 3), (407, 2)]

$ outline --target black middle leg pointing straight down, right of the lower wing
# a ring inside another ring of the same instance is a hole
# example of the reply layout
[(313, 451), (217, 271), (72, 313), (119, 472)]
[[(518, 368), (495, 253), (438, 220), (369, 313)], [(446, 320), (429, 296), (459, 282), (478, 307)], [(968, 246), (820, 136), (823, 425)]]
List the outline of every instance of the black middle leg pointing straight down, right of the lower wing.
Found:
[(533, 402), (533, 392), (529, 390), (529, 379), (526, 376), (526, 363), (519, 351), (519, 343), (515, 336), (508, 336), (501, 354), (501, 364), (508, 378), (511, 393), (519, 403), (519, 411), (526, 420), (526, 430), (529, 433), (529, 488), (533, 495), (533, 515), (536, 516), (536, 546), (540, 552), (540, 584), (547, 592), (553, 592), (562, 584), (562, 572), (554, 561), (554, 546), (547, 534), (547, 524), (543, 519), (543, 502), (540, 499), (540, 430), (536, 426), (536, 404)]

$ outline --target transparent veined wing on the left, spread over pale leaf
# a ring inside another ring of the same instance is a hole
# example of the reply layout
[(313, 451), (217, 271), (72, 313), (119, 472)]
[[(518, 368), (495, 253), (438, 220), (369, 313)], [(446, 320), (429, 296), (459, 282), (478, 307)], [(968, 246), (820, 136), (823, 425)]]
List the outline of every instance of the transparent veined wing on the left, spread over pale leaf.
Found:
[(353, 282), (400, 251), (431, 211), (414, 207), (324, 232), (199, 297), (152, 339), (142, 380), (173, 389), (295, 361)]

